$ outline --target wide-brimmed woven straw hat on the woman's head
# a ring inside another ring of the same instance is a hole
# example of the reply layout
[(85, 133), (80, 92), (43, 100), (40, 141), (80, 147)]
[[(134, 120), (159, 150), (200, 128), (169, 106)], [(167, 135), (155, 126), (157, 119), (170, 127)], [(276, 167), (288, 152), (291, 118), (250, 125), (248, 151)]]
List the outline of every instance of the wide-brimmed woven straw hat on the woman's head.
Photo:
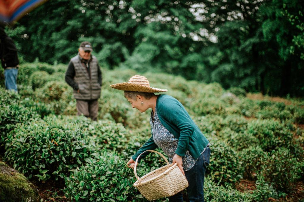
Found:
[(146, 93), (159, 93), (168, 91), (167, 89), (150, 87), (148, 79), (140, 75), (134, 75), (129, 79), (128, 82), (112, 84), (111, 87), (123, 91), (138, 91)]

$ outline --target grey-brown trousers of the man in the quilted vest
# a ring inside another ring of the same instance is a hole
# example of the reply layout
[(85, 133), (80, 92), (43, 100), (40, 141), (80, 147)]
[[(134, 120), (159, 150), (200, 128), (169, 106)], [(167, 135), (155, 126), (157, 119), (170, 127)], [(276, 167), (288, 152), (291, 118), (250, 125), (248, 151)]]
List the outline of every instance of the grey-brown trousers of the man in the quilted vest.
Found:
[(90, 117), (93, 121), (97, 121), (98, 100), (76, 100), (77, 115)]

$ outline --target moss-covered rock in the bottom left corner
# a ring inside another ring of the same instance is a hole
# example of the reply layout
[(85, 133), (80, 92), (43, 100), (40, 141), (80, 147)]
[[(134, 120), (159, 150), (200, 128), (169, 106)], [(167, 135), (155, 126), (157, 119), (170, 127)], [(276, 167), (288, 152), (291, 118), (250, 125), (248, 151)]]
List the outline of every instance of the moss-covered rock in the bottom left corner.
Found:
[(0, 162), (0, 201), (39, 202), (40, 196), (26, 177)]

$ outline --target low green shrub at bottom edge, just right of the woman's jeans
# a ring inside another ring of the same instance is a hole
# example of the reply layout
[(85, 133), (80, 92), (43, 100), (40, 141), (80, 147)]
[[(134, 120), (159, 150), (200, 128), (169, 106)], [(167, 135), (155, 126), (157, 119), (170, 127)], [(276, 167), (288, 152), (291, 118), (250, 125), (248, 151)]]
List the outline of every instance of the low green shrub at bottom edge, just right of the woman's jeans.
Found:
[(205, 201), (210, 202), (242, 202), (250, 201), (248, 195), (234, 190), (230, 186), (220, 186), (212, 181), (209, 177), (205, 177), (204, 181), (204, 197)]

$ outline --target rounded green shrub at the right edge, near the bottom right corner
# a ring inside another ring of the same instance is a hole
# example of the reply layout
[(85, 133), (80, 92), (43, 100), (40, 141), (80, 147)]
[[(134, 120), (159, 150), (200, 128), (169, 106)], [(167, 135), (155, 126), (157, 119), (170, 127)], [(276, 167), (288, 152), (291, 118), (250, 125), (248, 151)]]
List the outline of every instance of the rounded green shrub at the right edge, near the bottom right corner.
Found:
[(264, 157), (262, 174), (276, 189), (292, 190), (294, 182), (302, 177), (301, 163), (286, 148), (274, 150)]

